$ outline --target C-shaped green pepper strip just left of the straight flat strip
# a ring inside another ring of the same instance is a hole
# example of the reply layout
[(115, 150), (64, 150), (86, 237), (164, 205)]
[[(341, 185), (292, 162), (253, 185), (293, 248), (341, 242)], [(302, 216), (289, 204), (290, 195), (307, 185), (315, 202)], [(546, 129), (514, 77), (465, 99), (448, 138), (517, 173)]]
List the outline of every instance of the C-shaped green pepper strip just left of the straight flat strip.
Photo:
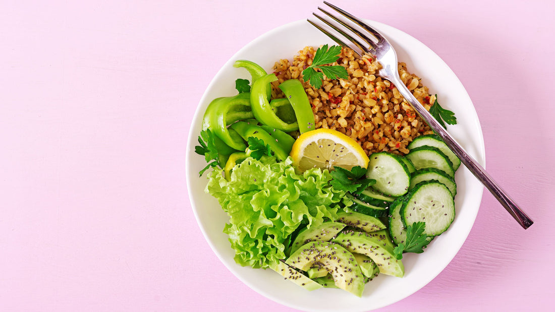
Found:
[(299, 129), (297, 122), (287, 124), (287, 122), (281, 120), (278, 115), (275, 114), (275, 110), (271, 107), (266, 98), (266, 86), (276, 80), (278, 80), (276, 75), (268, 74), (254, 81), (253, 87), (250, 90), (250, 103), (254, 117), (260, 121), (261, 124), (273, 127), (274, 129), (285, 132), (295, 131)]

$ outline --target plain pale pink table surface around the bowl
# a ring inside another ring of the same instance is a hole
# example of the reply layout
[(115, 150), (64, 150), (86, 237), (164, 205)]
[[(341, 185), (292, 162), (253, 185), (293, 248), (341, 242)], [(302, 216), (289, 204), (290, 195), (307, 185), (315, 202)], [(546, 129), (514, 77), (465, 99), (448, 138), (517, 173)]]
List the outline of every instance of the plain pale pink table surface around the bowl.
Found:
[[(486, 191), (455, 259), (382, 310), (553, 310), (552, 2), (336, 3), (445, 60), (476, 106), (488, 171), (536, 221), (524, 231)], [(206, 243), (185, 146), (221, 65), (320, 5), (3, 1), (0, 310), (291, 311)]]

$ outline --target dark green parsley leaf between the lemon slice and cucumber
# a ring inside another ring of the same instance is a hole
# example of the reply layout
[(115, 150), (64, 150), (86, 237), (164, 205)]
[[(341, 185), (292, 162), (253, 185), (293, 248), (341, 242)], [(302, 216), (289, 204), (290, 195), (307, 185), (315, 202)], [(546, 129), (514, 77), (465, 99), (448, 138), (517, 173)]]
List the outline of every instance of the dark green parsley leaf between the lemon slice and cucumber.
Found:
[(330, 185), (338, 191), (344, 190), (360, 194), (367, 187), (376, 183), (376, 180), (367, 179), (365, 174), (366, 169), (361, 166), (352, 167), (351, 170), (335, 167), (333, 171), (330, 171), (330, 175), (333, 178), (330, 181)]

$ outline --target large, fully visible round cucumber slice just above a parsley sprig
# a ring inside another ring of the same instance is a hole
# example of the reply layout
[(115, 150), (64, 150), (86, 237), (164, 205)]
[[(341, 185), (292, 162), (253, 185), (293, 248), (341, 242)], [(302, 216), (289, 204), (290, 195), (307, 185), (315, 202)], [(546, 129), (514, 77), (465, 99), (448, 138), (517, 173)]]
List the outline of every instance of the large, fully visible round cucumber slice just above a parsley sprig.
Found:
[(418, 183), (408, 193), (400, 211), (403, 225), (425, 222), (428, 237), (447, 231), (455, 219), (455, 201), (447, 188), (437, 181)]

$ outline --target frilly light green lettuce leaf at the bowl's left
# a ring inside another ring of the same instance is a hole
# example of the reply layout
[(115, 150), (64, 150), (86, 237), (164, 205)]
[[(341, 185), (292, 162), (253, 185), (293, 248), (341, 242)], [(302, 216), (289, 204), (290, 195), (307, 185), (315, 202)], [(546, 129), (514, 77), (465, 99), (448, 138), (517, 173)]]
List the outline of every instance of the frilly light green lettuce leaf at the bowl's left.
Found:
[(317, 226), (337, 218), (345, 191), (329, 185), (327, 170), (300, 175), (292, 161), (247, 158), (231, 172), (230, 181), (211, 172), (205, 191), (229, 215), (224, 233), (235, 250), (235, 262), (265, 268), (285, 259), (286, 244), (300, 226)]

